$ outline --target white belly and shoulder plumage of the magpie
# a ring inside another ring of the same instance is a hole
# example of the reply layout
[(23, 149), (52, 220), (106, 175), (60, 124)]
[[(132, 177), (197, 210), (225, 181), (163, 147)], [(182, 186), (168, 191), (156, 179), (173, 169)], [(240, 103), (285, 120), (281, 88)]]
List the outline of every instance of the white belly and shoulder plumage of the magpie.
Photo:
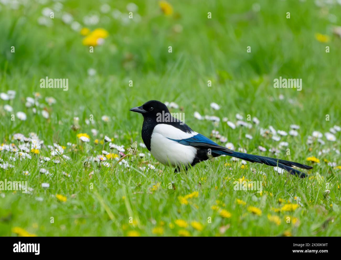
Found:
[(151, 135), (150, 153), (162, 164), (171, 164), (173, 166), (191, 164), (196, 155), (196, 148), (180, 144), (168, 138), (181, 140), (196, 134), (196, 132), (185, 133), (176, 127), (159, 124), (155, 126)]

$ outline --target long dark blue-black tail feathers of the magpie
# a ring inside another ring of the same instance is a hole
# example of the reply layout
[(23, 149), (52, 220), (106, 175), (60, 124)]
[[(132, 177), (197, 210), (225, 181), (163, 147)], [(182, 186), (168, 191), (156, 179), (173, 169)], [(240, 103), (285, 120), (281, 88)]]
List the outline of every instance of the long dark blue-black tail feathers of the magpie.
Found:
[(311, 166), (301, 164), (298, 162), (281, 160), (281, 159), (265, 157), (265, 156), (260, 156), (260, 155), (240, 153), (240, 152), (232, 151), (232, 150), (223, 151), (223, 150), (216, 150), (216, 149), (213, 150), (212, 149), (212, 153), (216, 153), (216, 154), (220, 154), (220, 155), (228, 155), (228, 156), (236, 157), (236, 158), (246, 160), (249, 162), (258, 162), (258, 163), (264, 163), (266, 165), (273, 166), (273, 167), (279, 167), (281, 169), (286, 170), (288, 173), (293, 174), (293, 175), (300, 177), (300, 178), (304, 178), (307, 175), (303, 172), (300, 172), (296, 169), (291, 168), (292, 166), (296, 166), (298, 168), (307, 169), (307, 170), (312, 169)]

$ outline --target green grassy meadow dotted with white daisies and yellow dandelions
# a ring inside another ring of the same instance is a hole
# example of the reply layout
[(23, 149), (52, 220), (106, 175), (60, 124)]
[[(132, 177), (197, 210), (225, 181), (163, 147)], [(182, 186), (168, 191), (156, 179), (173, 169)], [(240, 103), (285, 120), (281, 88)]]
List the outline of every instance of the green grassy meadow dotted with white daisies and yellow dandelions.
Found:
[[(0, 235), (340, 236), (340, 14), (336, 0), (0, 1), (0, 188), (28, 185), (0, 190)], [(152, 99), (222, 146), (313, 169), (221, 156), (174, 173), (129, 111)]]

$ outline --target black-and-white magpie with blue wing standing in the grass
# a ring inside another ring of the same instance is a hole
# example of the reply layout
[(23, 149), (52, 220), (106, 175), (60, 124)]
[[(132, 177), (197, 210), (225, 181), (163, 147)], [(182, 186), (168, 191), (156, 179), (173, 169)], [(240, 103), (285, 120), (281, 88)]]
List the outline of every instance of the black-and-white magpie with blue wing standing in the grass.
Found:
[(221, 146), (173, 117), (167, 106), (157, 100), (132, 107), (130, 111), (143, 115), (141, 135), (147, 149), (160, 163), (175, 167), (175, 172), (180, 172), (182, 167), (187, 171), (190, 165), (193, 167), (198, 162), (221, 155), (279, 167), (300, 178), (307, 174), (292, 168), (293, 166), (312, 169), (311, 166), (298, 162), (242, 153)]

